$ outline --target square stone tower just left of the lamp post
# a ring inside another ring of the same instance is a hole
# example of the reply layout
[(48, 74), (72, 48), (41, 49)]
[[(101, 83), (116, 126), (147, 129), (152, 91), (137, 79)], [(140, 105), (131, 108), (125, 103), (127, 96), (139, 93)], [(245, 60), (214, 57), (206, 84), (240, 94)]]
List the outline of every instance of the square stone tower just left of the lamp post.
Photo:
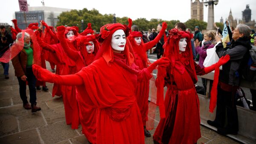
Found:
[(204, 21), (204, 0), (191, 0), (191, 19)]

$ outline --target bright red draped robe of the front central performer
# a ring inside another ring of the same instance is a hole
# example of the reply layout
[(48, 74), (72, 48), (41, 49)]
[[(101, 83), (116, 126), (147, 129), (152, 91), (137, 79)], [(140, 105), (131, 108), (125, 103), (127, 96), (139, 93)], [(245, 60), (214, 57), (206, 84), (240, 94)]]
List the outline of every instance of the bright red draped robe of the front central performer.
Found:
[[(114, 54), (116, 56), (116, 54)], [(79, 75), (84, 85), (77, 86), (79, 106), (97, 107), (97, 144), (144, 144), (143, 123), (135, 98), (137, 80), (151, 74), (125, 60), (108, 63), (99, 58), (83, 68)]]

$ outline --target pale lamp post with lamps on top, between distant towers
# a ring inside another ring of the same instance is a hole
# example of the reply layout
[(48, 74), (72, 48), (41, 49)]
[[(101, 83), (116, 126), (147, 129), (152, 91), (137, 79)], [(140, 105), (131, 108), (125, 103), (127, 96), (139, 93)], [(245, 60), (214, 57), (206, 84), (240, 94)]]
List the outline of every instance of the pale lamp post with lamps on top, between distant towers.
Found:
[(206, 0), (204, 2), (204, 6), (208, 7), (208, 22), (207, 22), (207, 30), (212, 30), (214, 28), (214, 7), (213, 5), (218, 5), (218, 0), (209, 0), (209, 2)]

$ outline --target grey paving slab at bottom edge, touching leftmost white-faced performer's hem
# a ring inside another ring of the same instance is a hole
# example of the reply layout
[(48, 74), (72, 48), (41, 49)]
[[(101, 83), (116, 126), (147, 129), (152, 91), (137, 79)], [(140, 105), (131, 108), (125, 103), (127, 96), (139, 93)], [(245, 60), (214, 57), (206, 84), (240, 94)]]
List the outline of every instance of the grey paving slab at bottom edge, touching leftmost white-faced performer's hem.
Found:
[(68, 138), (79, 136), (76, 130), (72, 130), (71, 126), (67, 125), (65, 121), (49, 124), (38, 129), (44, 144), (54, 144), (67, 140)]

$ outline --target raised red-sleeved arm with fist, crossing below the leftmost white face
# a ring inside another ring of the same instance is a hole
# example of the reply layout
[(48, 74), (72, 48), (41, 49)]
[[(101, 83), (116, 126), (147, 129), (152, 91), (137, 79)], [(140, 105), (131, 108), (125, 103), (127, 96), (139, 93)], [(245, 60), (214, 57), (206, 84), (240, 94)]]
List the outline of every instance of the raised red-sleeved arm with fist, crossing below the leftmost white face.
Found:
[(58, 39), (61, 43), (61, 47), (64, 49), (64, 51), (66, 52), (67, 56), (70, 57), (70, 59), (72, 59), (73, 61), (77, 61), (77, 59), (79, 58), (79, 52), (78, 51), (74, 51), (71, 48), (69, 48), (67, 41), (65, 39), (65, 27), (62, 26), (58, 26), (57, 27), (57, 31), (58, 31)]

